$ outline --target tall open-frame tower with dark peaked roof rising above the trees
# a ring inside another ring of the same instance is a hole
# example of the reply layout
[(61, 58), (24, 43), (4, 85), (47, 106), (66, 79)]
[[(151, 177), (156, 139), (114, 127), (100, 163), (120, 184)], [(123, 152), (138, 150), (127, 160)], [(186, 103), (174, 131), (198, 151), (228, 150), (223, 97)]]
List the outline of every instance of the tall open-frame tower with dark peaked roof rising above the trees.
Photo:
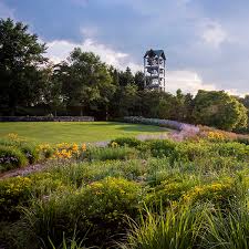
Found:
[(165, 92), (164, 50), (148, 50), (144, 55), (144, 86), (149, 90)]

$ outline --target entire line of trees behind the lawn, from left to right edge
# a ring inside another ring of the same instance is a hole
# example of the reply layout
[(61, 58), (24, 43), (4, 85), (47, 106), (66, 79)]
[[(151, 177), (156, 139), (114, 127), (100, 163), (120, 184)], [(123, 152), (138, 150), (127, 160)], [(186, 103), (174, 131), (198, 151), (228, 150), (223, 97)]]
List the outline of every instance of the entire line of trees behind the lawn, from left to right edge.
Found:
[(196, 96), (148, 91), (144, 73), (115, 69), (75, 48), (53, 64), (28, 25), (0, 20), (0, 115), (126, 115), (246, 129), (249, 96), (199, 90)]

